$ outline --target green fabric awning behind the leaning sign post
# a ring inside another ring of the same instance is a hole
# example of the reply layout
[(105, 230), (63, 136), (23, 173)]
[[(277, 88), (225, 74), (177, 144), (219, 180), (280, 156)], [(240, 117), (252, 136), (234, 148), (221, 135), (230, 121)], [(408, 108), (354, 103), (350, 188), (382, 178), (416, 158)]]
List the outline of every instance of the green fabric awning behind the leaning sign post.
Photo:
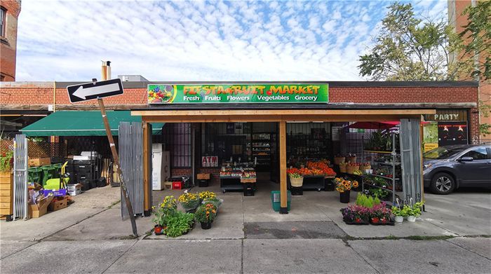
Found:
[[(118, 135), (119, 122), (142, 122), (142, 116), (130, 111), (107, 111), (113, 135)], [(152, 123), (152, 134), (162, 132), (163, 123)], [(20, 130), (26, 136), (105, 136), (100, 111), (56, 111)]]

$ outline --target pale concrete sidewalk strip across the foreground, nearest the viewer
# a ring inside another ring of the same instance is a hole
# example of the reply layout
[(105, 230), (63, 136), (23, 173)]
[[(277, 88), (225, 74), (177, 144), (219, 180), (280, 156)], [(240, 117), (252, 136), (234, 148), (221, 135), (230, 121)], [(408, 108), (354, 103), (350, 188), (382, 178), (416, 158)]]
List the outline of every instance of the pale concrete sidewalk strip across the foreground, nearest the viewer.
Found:
[(490, 238), (43, 241), (1, 273), (491, 273)]

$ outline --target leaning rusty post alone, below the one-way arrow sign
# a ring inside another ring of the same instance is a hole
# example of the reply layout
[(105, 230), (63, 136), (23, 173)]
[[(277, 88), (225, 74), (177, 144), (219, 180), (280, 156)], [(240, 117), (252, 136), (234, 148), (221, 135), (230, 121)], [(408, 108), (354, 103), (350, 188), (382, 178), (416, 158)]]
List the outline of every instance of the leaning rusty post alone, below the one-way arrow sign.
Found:
[(119, 181), (121, 182), (121, 192), (123, 193), (124, 201), (126, 202), (126, 208), (128, 209), (128, 214), (130, 215), (131, 228), (133, 228), (133, 235), (138, 237), (135, 214), (133, 213), (133, 207), (131, 206), (130, 196), (128, 196), (128, 191), (126, 190), (126, 183), (123, 179), (123, 172), (121, 172), (121, 165), (119, 164), (118, 151), (116, 151), (116, 144), (114, 144), (114, 138), (112, 137), (111, 128), (109, 127), (109, 121), (107, 121), (106, 108), (104, 107), (104, 102), (102, 98), (97, 98), (99, 103), (100, 113), (102, 114), (102, 121), (104, 121), (104, 127), (106, 128), (107, 139), (109, 140), (109, 147), (111, 148), (112, 158), (114, 160), (114, 165), (118, 168), (116, 170), (118, 174)]

